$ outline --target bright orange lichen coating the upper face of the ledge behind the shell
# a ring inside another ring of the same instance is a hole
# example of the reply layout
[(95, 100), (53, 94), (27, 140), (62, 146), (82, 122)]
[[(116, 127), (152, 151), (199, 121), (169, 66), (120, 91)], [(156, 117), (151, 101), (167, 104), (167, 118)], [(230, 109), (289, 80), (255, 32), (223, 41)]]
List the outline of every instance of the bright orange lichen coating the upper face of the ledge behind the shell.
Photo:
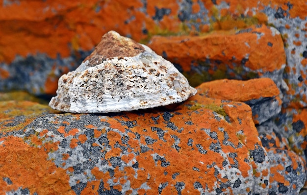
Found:
[[(149, 47), (156, 53), (167, 54), (167, 59), (173, 63), (179, 63), (183, 71), (190, 71), (192, 61), (205, 61), (207, 58), (219, 60), (222, 64), (231, 64), (241, 60), (249, 54), (246, 67), (252, 70), (262, 69), (263, 72), (280, 69), (285, 64), (285, 52), (283, 42), (279, 34), (272, 35), (269, 27), (251, 27), (253, 32), (264, 35), (260, 38), (256, 33), (239, 33), (236, 31), (215, 31), (202, 36), (154, 36)], [(268, 46), (268, 42), (269, 44)], [(236, 43), (236, 44), (233, 44)], [(203, 47), (206, 46), (206, 47)], [(261, 49), (255, 51), (255, 48)], [(202, 48), (202, 49), (199, 49)], [(267, 55), (271, 53), (271, 55)], [(272, 57), (274, 56), (274, 57)], [(198, 66), (197, 63), (194, 66)]]

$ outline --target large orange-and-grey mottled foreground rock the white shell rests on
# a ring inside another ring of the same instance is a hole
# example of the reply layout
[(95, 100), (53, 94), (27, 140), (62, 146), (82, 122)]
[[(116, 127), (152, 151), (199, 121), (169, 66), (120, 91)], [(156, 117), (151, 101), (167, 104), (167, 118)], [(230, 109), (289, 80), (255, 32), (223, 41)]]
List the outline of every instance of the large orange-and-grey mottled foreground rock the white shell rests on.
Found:
[(263, 147), (247, 104), (212, 98), (207, 86), (197, 89), (174, 111), (25, 113), (31, 122), (24, 128), (7, 131), (4, 123), (1, 192), (297, 194), (306, 177), (303, 159), (286, 148)]

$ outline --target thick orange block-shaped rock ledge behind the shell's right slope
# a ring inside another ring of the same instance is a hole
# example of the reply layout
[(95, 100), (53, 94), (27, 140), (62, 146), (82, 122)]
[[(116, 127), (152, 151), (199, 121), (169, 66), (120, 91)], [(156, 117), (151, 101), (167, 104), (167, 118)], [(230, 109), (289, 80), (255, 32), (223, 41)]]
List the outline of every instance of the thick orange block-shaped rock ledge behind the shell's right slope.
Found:
[(153, 36), (148, 46), (177, 64), (192, 85), (257, 77), (270, 77), (285, 85), (281, 74), (286, 55), (281, 35), (266, 25), (199, 36)]

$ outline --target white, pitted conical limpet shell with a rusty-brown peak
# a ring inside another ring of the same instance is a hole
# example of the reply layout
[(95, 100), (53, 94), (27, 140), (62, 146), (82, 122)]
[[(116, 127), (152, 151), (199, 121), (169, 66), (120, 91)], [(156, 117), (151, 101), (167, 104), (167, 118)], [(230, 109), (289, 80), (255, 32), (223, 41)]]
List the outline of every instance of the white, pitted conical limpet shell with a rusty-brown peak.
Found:
[(76, 71), (59, 79), (49, 105), (65, 112), (119, 112), (178, 103), (196, 92), (172, 63), (110, 31)]

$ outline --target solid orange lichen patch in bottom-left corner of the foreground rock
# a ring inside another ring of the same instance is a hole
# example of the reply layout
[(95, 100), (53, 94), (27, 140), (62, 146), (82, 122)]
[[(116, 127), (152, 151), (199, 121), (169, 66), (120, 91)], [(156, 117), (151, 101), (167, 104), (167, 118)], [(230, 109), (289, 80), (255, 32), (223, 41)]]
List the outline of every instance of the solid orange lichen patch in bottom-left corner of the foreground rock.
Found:
[(6, 137), (0, 145), (0, 156), (0, 176), (12, 181), (12, 185), (8, 185), (1, 179), (1, 192), (23, 186), (30, 194), (75, 194), (66, 171), (47, 160), (48, 154), (43, 147), (30, 147), (21, 138)]

